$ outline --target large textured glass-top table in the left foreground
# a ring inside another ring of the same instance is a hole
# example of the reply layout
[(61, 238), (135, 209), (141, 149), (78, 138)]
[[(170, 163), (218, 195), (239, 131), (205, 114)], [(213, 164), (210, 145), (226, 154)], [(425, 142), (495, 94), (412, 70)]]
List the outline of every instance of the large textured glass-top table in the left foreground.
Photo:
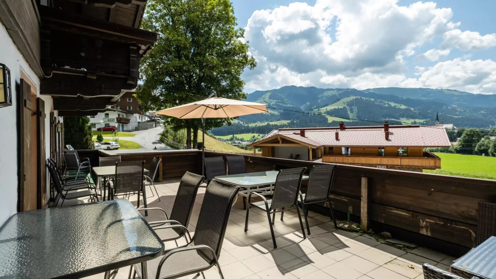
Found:
[[(83, 278), (162, 255), (127, 200), (19, 212), (0, 228), (0, 278)], [(147, 272), (143, 272), (147, 275)]]

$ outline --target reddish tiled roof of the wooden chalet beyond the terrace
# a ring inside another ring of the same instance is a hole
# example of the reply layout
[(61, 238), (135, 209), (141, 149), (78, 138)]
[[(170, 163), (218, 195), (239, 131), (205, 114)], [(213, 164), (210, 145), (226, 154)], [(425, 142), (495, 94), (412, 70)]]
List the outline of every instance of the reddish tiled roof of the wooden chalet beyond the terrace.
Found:
[[(300, 136), (305, 130), (305, 137)], [(339, 139), (336, 140), (335, 133)], [(297, 135), (295, 135), (297, 134)], [(442, 126), (389, 126), (389, 139), (386, 140), (384, 127), (339, 127), (280, 129), (270, 132), (260, 141), (276, 135), (296, 139), (314, 146), (450, 146), (446, 131)], [(256, 144), (256, 142), (254, 142)], [(253, 143), (250, 145), (254, 145)]]

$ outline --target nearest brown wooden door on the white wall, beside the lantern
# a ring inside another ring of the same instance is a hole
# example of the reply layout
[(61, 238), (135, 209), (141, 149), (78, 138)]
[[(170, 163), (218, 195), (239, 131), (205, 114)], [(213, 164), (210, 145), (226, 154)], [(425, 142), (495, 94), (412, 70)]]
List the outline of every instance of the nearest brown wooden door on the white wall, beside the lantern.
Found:
[[(20, 79), (19, 96), (19, 204), (18, 210), (36, 209), (37, 171), (32, 168), (32, 116), (35, 109), (31, 102), (31, 86), (24, 79)], [(35, 127), (36, 128), (36, 127)], [(36, 135), (36, 134), (35, 134)], [(34, 186), (34, 187), (33, 187)]]

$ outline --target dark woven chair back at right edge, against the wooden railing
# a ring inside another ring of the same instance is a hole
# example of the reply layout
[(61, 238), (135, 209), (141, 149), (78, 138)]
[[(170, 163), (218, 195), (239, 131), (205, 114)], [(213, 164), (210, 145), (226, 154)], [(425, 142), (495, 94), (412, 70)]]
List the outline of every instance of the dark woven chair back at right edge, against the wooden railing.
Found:
[(476, 246), (496, 236), (496, 204), (479, 202)]

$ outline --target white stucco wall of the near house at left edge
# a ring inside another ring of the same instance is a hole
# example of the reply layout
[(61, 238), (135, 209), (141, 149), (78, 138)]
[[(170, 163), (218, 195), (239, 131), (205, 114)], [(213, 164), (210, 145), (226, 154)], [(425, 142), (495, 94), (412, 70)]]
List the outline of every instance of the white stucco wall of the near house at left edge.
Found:
[[(10, 39), (3, 24), (0, 23), (0, 63), (5, 64), (11, 73), (12, 83), (12, 106), (0, 108), (0, 193), (2, 202), (0, 203), (0, 225), (3, 224), (12, 214), (17, 212), (17, 98), (16, 88), (20, 82), (21, 71), (29, 78), (38, 89), (40, 96), (40, 79), (29, 67), (24, 57), (19, 52), (13, 41)], [(41, 96), (45, 101), (45, 135), (46, 135), (46, 156), (50, 156), (50, 111), (52, 108), (52, 97)], [(36, 137), (36, 135), (34, 136)], [(36, 158), (36, 154), (33, 154)], [(47, 182), (49, 177), (47, 176)], [(49, 184), (47, 183), (47, 186)], [(48, 186), (49, 187), (49, 186)], [(47, 192), (48, 193), (48, 192)]]

